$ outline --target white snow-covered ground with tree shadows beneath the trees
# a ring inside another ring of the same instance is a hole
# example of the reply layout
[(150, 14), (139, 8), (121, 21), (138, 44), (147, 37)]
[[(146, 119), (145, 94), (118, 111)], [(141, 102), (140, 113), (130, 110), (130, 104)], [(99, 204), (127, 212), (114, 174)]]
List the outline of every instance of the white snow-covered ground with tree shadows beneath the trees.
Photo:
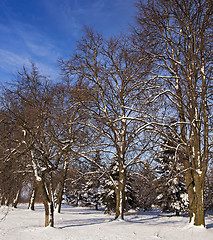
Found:
[(154, 212), (128, 214), (125, 221), (88, 208), (63, 206), (55, 214), (55, 227), (44, 227), (42, 205), (36, 211), (26, 205), (0, 208), (1, 240), (212, 240), (213, 216), (206, 217), (207, 229), (193, 227), (186, 217), (165, 217)]

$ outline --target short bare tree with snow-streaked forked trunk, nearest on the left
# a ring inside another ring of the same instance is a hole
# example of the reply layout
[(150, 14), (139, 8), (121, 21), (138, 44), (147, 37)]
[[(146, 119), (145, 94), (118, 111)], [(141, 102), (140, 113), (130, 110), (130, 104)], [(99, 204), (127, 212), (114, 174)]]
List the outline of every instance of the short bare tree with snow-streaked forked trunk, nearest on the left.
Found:
[[(25, 150), (45, 207), (45, 226), (54, 225), (53, 178), (72, 139), (64, 141), (53, 85), (32, 65), (23, 68), (17, 80), (4, 93), (5, 109), (21, 131), (17, 146)], [(14, 155), (14, 152), (11, 152)]]

